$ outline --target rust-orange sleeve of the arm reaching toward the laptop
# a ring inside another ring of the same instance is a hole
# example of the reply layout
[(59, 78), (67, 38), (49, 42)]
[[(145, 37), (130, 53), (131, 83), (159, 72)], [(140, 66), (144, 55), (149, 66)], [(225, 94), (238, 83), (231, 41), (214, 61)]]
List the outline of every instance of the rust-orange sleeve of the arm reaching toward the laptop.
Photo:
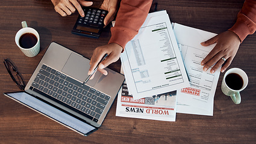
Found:
[(108, 44), (117, 43), (125, 49), (126, 43), (138, 34), (148, 16), (151, 4), (152, 0), (122, 0)]

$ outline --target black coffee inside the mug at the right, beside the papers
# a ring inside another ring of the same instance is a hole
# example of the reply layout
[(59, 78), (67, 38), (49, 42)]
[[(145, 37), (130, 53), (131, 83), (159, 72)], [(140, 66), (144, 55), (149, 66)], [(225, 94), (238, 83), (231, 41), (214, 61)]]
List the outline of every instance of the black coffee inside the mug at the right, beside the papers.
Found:
[(226, 85), (234, 90), (239, 90), (243, 87), (243, 78), (237, 73), (230, 73), (225, 78)]

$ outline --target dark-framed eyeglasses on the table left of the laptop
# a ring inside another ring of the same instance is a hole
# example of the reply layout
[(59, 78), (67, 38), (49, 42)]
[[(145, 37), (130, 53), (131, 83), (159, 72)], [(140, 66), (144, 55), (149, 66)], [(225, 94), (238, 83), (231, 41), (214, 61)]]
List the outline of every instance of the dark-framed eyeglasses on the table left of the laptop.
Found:
[[(16, 83), (17, 86), (19, 86), (19, 88), (23, 91), (25, 89), (25, 83), (22, 79), (22, 77), (20, 76), (19, 74), (19, 71), (17, 71), (17, 68), (14, 67), (14, 65), (8, 60), (8, 59), (4, 59), (4, 65), (8, 71), (8, 73), (10, 74), (11, 76), (11, 79), (13, 79), (13, 81)], [(13, 76), (13, 73), (11, 72), (14, 71), (14, 73), (16, 73), (16, 79), (15, 77)]]

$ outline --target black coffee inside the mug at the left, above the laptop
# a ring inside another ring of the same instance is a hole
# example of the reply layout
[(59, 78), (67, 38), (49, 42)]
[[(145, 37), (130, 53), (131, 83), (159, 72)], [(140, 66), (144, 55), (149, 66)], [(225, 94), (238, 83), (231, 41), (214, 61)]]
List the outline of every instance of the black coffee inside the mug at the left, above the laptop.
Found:
[(24, 49), (30, 49), (31, 47), (35, 46), (36, 43), (37, 37), (32, 33), (25, 33), (19, 38), (19, 45)]

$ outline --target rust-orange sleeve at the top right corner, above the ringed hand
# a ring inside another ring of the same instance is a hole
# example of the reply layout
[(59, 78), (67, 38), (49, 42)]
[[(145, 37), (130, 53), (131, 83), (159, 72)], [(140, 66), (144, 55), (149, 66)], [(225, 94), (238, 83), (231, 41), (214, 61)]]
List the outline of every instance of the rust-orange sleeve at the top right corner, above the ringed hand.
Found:
[(256, 30), (256, 0), (245, 1), (242, 10), (237, 14), (236, 23), (228, 30), (235, 32), (241, 43), (247, 35), (254, 34)]

